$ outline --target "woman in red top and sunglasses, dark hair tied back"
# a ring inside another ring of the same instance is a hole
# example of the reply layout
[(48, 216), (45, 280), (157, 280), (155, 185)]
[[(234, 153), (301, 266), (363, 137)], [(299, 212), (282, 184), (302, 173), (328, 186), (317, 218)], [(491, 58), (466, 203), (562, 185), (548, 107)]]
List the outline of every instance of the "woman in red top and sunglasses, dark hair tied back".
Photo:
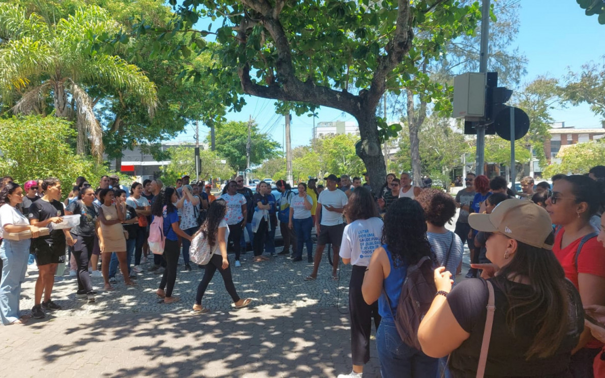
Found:
[[(584, 306), (605, 305), (605, 248), (590, 225), (590, 217), (601, 206), (602, 192), (600, 184), (589, 177), (571, 175), (555, 181), (546, 200), (546, 210), (557, 225), (552, 252), (566, 278), (578, 288)], [(594, 376), (592, 362), (602, 346), (586, 328), (572, 351), (569, 369), (574, 377)]]

